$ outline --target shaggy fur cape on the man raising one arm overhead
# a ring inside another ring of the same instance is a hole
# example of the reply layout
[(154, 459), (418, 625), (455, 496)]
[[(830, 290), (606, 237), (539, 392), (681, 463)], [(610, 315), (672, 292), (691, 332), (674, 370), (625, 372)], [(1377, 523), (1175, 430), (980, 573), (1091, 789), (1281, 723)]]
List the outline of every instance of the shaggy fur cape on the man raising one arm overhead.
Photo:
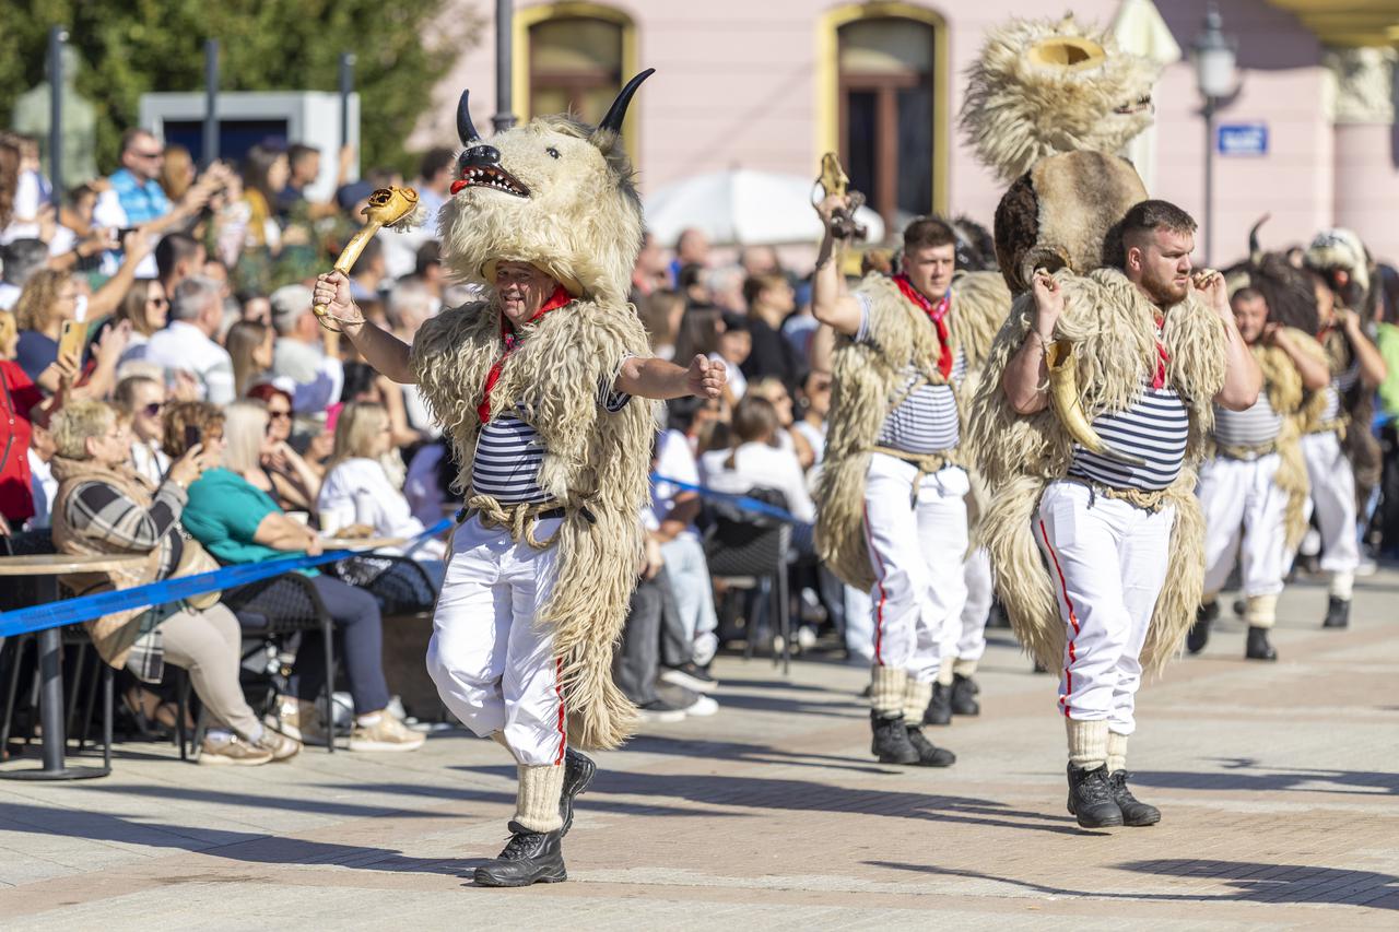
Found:
[[(825, 460), (816, 491), (816, 547), (831, 572), (858, 589), (869, 589), (874, 585), (865, 543), (870, 449), (888, 411), (904, 395), (911, 361), (930, 382), (942, 382), (937, 372), (942, 348), (928, 316), (900, 292), (893, 278), (870, 274), (859, 290), (870, 299), (870, 341), (856, 343), (845, 336), (837, 340)], [(1009, 308), (1010, 292), (1000, 274), (974, 271), (953, 280), (947, 315), (950, 348), (953, 353), (961, 348), (968, 371), (986, 358), (992, 334)], [(963, 395), (958, 392), (958, 406)]]

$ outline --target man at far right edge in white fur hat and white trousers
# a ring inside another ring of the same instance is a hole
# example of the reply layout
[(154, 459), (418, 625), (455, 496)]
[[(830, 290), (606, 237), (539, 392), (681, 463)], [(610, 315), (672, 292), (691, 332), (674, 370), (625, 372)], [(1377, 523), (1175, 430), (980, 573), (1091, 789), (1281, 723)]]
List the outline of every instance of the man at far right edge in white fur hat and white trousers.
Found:
[(1343, 628), (1350, 624), (1350, 595), (1360, 564), (1356, 512), (1378, 481), (1378, 446), (1368, 425), (1375, 386), (1385, 381), (1385, 362), (1357, 313), (1364, 306), (1370, 270), (1356, 234), (1322, 231), (1304, 262), (1315, 276), (1318, 339), (1326, 350), (1330, 383), (1325, 409), (1302, 435), (1302, 455), (1311, 479), (1309, 504), (1321, 530), (1321, 568), (1330, 574), (1322, 627)]

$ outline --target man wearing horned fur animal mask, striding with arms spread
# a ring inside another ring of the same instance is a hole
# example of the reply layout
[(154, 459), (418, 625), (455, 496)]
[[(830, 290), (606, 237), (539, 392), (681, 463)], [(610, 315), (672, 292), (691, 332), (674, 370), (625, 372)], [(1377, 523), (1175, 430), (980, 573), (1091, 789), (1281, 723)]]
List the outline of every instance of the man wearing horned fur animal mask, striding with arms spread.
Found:
[(618, 133), (648, 74), (596, 127), (541, 116), (490, 143), (462, 95), (466, 148), (438, 232), (443, 263), (485, 299), (428, 320), (411, 347), (364, 320), (344, 276), (316, 284), (371, 365), (418, 385), (463, 463), (428, 672), (518, 764), (511, 841), (476, 870), (484, 886), (567, 877), (560, 841), (595, 771), (575, 746), (613, 747), (632, 723), (611, 659), (642, 560), (655, 413), (628, 399), (723, 388), (702, 357), (644, 358), (627, 304), (642, 217)]

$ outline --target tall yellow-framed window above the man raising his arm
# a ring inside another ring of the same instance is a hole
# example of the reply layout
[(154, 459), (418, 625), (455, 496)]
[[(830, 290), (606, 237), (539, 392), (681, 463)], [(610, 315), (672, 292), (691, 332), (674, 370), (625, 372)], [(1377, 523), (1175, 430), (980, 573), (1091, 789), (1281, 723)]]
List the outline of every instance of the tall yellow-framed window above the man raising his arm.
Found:
[(905, 17), (866, 17), (837, 29), (841, 161), (890, 230), (933, 211), (936, 29)]

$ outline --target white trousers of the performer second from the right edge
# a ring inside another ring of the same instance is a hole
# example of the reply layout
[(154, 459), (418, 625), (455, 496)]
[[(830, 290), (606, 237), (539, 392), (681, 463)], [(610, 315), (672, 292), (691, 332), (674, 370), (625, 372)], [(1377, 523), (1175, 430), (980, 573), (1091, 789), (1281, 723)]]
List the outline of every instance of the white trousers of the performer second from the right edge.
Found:
[(1195, 494), (1205, 511), (1205, 595), (1224, 588), (1235, 554), (1247, 598), (1283, 591), (1287, 494), (1273, 483), (1280, 462), (1269, 453), (1254, 460), (1216, 456), (1200, 466)]

